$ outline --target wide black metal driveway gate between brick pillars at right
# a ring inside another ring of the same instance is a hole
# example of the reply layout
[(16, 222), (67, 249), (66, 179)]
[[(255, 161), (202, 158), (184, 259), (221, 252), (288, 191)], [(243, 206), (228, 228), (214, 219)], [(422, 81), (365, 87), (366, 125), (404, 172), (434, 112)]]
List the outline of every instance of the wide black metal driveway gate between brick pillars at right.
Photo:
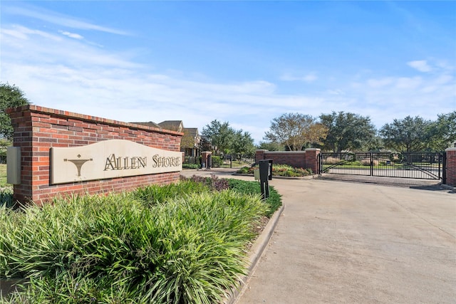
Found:
[(342, 152), (321, 153), (318, 167), (320, 174), (442, 179), (444, 162), (445, 153)]

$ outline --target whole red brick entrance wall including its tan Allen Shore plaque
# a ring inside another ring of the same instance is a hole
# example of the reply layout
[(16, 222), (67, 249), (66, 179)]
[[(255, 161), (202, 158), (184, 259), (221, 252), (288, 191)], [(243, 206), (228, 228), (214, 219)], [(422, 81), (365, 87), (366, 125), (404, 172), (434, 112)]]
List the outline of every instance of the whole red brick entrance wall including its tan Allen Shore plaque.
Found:
[(8, 179), (18, 201), (44, 204), (54, 196), (123, 192), (180, 179), (181, 132), (38, 105), (6, 112), (14, 127), (8, 167), (16, 171)]

